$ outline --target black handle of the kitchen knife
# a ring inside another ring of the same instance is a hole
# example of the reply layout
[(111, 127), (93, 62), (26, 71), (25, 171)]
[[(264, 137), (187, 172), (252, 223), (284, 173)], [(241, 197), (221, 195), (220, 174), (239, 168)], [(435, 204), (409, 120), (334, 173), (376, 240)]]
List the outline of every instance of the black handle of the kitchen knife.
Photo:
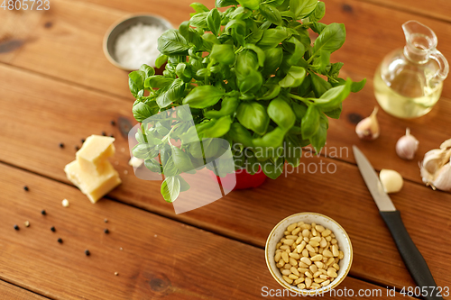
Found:
[[(417, 286), (425, 287), (428, 290), (428, 295), (424, 296), (424, 299), (443, 299), (440, 295), (441, 293), (438, 293), (437, 284), (430, 273), (426, 260), (410, 238), (404, 223), (402, 223), (400, 211), (380, 212), (380, 214), (382, 215), (383, 221), (389, 227), (391, 236), (396, 243), (396, 247), (400, 250), (400, 256), (409, 269), (411, 277)], [(433, 290), (430, 291), (432, 288)]]

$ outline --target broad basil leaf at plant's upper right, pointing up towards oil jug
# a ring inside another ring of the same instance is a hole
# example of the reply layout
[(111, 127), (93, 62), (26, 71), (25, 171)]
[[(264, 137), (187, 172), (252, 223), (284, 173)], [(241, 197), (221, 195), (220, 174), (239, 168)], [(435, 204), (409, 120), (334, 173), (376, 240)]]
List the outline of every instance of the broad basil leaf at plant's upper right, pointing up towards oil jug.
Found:
[(330, 53), (340, 49), (345, 42), (345, 24), (331, 23), (318, 35), (313, 46), (313, 53), (326, 50)]

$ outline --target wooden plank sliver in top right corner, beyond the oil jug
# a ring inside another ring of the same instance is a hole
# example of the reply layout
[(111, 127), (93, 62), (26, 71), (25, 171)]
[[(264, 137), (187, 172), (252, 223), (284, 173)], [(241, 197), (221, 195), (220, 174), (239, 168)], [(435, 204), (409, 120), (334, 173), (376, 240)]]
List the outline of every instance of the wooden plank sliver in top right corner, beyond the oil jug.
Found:
[(451, 21), (447, 12), (451, 10), (451, 4), (446, 0), (410, 1), (410, 0), (360, 0), (375, 5), (384, 5), (411, 14), (425, 15), (434, 19)]

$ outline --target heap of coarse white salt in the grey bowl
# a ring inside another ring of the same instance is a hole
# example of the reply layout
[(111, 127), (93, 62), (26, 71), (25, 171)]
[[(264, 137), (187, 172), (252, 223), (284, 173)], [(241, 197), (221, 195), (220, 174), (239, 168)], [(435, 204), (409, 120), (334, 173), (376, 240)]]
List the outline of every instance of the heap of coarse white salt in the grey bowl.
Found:
[(124, 68), (138, 69), (152, 65), (160, 55), (158, 38), (166, 30), (161, 26), (138, 23), (117, 37), (115, 58)]

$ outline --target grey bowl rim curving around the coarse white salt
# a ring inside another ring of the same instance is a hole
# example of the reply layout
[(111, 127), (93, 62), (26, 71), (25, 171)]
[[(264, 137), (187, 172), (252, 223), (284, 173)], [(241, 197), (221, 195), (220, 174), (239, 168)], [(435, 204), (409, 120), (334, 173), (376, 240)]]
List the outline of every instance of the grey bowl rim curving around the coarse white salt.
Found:
[[(164, 28), (165, 30), (173, 28), (172, 24), (168, 20), (154, 14), (132, 14), (125, 17), (124, 19), (119, 20), (117, 23), (114, 23), (106, 31), (103, 48), (106, 59), (108, 59), (109, 62), (111, 62), (117, 68), (122, 68), (126, 71), (134, 70), (122, 66), (115, 58), (115, 41), (117, 37), (121, 35), (121, 33), (123, 33), (128, 28), (138, 23), (143, 23), (145, 25), (158, 25)], [(152, 67), (155, 67), (154, 65), (152, 65), (152, 63), (150, 63), (150, 65)]]

